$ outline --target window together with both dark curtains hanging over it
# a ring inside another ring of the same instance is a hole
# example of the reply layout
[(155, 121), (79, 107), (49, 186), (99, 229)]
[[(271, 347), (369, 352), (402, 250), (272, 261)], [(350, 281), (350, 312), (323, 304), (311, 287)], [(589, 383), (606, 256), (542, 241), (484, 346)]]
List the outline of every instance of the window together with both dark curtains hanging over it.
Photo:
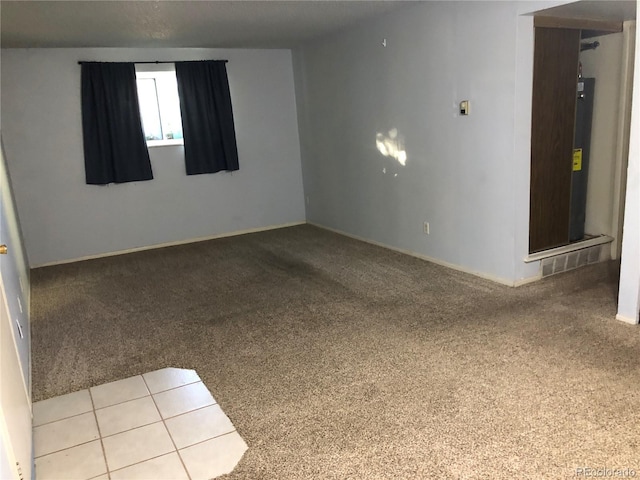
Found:
[(151, 180), (160, 145), (184, 145), (187, 175), (240, 168), (226, 60), (78, 63), (87, 184)]

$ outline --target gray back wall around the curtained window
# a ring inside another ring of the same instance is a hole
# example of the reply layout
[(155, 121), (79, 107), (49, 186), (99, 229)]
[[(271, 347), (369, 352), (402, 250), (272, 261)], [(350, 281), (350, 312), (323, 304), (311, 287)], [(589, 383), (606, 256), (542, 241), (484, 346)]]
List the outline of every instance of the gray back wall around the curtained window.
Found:
[[(240, 170), (184, 173), (150, 149), (154, 180), (84, 182), (78, 60), (229, 60)], [(305, 220), (291, 52), (3, 49), (2, 130), (31, 266)]]

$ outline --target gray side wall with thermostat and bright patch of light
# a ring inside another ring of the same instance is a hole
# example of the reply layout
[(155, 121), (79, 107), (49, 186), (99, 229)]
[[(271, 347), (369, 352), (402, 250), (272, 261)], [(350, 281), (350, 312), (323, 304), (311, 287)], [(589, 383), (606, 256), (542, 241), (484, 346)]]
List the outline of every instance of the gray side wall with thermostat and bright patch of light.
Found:
[[(549, 6), (424, 2), (296, 50), (307, 220), (509, 284), (536, 276), (533, 21), (519, 15)], [(404, 166), (376, 148), (393, 129)]]

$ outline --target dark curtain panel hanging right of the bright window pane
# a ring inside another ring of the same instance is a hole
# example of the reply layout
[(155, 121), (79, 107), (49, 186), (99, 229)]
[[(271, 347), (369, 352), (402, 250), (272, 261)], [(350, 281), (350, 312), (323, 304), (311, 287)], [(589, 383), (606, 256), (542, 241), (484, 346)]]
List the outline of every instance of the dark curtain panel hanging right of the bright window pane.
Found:
[(238, 170), (224, 60), (176, 62), (187, 175)]

